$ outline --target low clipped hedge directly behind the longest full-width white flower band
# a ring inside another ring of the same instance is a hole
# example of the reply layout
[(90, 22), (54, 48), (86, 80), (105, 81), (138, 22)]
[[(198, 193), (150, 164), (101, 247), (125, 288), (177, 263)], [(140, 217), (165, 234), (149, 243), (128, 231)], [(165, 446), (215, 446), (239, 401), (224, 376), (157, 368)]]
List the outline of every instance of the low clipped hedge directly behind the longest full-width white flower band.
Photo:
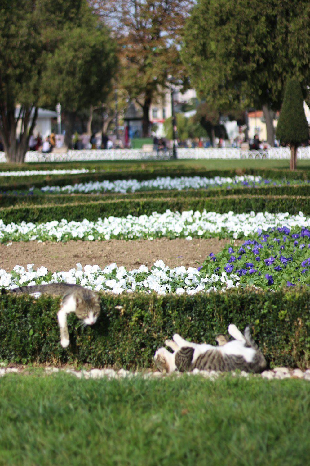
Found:
[[(184, 194), (183, 194), (184, 196)], [(83, 219), (97, 220), (110, 215), (125, 217), (131, 215), (150, 215), (152, 212), (165, 212), (170, 209), (173, 212), (186, 210), (198, 210), (202, 212), (215, 211), (219, 213), (233, 211), (244, 212), (289, 212), (298, 214), (303, 212), (310, 215), (310, 203), (307, 196), (226, 196), (216, 198), (159, 198), (159, 199), (132, 199), (123, 198), (98, 202), (72, 202), (64, 205), (47, 206), (16, 206), (0, 208), (0, 218), (4, 223), (48, 222), (51, 219), (67, 219), (81, 221)]]

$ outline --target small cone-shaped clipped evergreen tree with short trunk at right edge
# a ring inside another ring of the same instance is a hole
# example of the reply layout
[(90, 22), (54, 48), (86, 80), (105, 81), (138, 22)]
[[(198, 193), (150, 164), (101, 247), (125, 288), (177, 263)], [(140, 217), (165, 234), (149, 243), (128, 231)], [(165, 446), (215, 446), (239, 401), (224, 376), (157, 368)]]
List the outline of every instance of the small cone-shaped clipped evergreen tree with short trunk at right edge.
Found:
[(286, 86), (276, 130), (281, 144), (290, 146), (290, 170), (297, 165), (297, 148), (308, 140), (309, 128), (303, 109), (303, 93), (298, 81), (291, 79)]

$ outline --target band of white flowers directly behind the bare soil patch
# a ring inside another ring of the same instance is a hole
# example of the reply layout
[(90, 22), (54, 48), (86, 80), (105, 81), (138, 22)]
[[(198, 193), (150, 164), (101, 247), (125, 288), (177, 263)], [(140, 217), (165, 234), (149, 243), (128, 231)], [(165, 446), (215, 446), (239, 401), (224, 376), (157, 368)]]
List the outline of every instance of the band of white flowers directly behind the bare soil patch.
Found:
[(209, 238), (210, 236), (247, 236), (255, 229), (266, 230), (270, 226), (310, 226), (310, 217), (303, 212), (299, 215), (286, 213), (272, 214), (254, 212), (235, 214), (185, 211), (165, 213), (153, 212), (152, 215), (125, 218), (110, 216), (96, 222), (84, 219), (82, 222), (62, 219), (47, 223), (34, 224), (21, 222), (5, 225), (0, 219), (0, 242), (8, 241), (67, 241), (67, 240), (110, 240), (110, 239), (148, 239), (168, 238)]

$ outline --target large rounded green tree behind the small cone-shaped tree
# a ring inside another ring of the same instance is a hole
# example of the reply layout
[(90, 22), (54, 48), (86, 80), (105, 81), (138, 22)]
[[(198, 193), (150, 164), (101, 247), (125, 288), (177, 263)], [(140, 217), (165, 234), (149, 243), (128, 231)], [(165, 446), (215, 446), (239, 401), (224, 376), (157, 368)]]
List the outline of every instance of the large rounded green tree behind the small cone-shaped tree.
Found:
[(294, 73), (310, 81), (307, 0), (198, 0), (186, 21), (182, 60), (200, 97), (223, 107), (262, 108), (274, 144), (272, 111)]

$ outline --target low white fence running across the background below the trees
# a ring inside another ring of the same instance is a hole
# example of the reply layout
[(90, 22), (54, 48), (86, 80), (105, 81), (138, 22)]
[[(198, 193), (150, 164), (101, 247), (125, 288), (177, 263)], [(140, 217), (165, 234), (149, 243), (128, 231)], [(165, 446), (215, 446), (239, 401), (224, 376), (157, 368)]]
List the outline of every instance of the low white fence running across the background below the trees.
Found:
[[(227, 147), (218, 148), (178, 148), (178, 159), (290, 159), (290, 149), (288, 147), (270, 147), (260, 151), (244, 151), (238, 148)], [(156, 151), (141, 151), (139, 149), (85, 149), (81, 151), (50, 152), (43, 154), (37, 151), (26, 152), (25, 162), (70, 162), (70, 161), (90, 161), (90, 160), (157, 160), (169, 158), (168, 155), (157, 153)], [(310, 159), (310, 146), (299, 147), (297, 151), (298, 159)], [(4, 152), (0, 152), (0, 163), (6, 162)]]

